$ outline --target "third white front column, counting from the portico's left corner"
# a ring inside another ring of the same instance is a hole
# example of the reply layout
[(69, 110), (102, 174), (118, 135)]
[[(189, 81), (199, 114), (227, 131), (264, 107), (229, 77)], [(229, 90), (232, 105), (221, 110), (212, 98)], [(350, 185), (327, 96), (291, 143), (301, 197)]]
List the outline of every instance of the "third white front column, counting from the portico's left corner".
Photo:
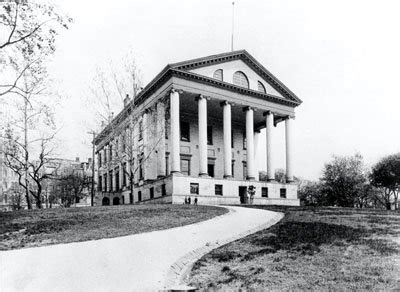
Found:
[(223, 102), (224, 109), (224, 177), (232, 177), (232, 118), (231, 105)]

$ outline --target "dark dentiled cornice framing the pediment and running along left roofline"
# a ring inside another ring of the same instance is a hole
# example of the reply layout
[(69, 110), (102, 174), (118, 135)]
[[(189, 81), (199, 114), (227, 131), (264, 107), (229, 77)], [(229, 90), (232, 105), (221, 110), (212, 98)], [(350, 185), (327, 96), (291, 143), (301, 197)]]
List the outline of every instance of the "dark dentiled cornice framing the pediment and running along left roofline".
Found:
[[(250, 68), (255, 70), (260, 76), (269, 81), (269, 84), (274, 87), (279, 93), (281, 93), (285, 98), (271, 95), (268, 93), (262, 93), (252, 89), (247, 89), (240, 87), (231, 83), (220, 81), (214, 78), (196, 74), (190, 72), (189, 70), (200, 68), (204, 66), (209, 66), (218, 63), (224, 63), (234, 60), (242, 60)], [(137, 106), (146, 100), (155, 90), (163, 84), (164, 81), (168, 80), (172, 76), (178, 76), (184, 79), (193, 80), (203, 84), (209, 84), (212, 86), (222, 87), (230, 91), (241, 92), (243, 94), (248, 94), (269, 100), (276, 103), (286, 104), (292, 107), (296, 107), (302, 103), (300, 98), (298, 98), (289, 88), (287, 88), (281, 81), (278, 80), (271, 72), (269, 72), (263, 65), (261, 65), (252, 55), (250, 55), (246, 50), (238, 50), (233, 52), (227, 52), (217, 55), (206, 56), (202, 58), (191, 59), (183, 62), (168, 64), (164, 67), (159, 74), (151, 80), (145, 88), (138, 94), (138, 96), (131, 101), (130, 105)], [(129, 106), (125, 107), (111, 123), (115, 123), (124, 117), (124, 115), (130, 113), (131, 109)], [(110, 123), (110, 124), (111, 124)], [(110, 124), (104, 128), (95, 139), (95, 144), (98, 144), (99, 139), (109, 130)]]

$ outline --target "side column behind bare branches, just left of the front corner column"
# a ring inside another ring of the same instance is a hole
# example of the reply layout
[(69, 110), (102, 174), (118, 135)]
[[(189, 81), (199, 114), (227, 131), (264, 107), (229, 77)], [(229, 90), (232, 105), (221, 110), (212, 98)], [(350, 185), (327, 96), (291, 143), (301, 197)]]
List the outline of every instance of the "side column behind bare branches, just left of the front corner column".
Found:
[(165, 105), (162, 101), (157, 103), (157, 177), (165, 173)]

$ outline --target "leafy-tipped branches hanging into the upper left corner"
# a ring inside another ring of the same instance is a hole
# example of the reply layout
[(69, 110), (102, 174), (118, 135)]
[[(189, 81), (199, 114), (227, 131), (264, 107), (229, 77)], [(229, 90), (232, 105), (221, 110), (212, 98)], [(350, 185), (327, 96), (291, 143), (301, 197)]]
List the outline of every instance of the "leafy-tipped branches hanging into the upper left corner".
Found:
[(0, 96), (27, 93), (22, 77), (37, 63), (39, 57), (34, 56), (43, 59), (53, 54), (58, 31), (68, 29), (71, 22), (53, 5), (21, 0), (0, 3), (0, 64), (4, 65)]

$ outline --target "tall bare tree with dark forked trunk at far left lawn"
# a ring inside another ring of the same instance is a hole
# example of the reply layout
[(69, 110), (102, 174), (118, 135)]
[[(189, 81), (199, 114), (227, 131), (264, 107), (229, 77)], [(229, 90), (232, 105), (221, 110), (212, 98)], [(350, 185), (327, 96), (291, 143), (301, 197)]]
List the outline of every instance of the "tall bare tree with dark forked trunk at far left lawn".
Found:
[[(40, 58), (31, 61), (32, 56), (26, 57), (31, 66), (22, 77), (23, 92), (14, 92), (20, 97), (14, 101), (15, 117), (2, 136), (7, 141), (6, 165), (18, 175), (19, 184), (25, 189), (28, 209), (31, 209), (30, 196), (35, 199), (37, 208), (42, 207), (42, 181), (47, 176), (42, 169), (53, 150), (55, 125), (51, 103), (45, 98), (48, 80), (45, 66)], [(34, 154), (37, 160), (32, 159)]]

